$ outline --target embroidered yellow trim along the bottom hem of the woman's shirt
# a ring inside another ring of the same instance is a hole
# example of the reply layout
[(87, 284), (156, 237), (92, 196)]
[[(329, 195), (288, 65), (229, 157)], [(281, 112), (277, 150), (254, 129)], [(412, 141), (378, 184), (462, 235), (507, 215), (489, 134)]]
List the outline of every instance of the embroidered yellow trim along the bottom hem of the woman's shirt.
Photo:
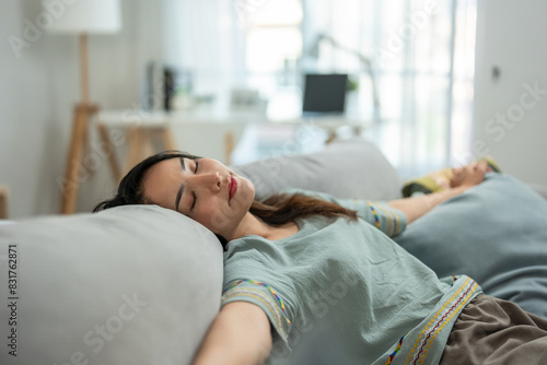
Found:
[(462, 287), (459, 287), (457, 292), (454, 293), (454, 295), (446, 301), (446, 303), (444, 303), (444, 305), (423, 328), (421, 333), (418, 334), (418, 339), (408, 354), (407, 364), (423, 363), (423, 360), (426, 358), (435, 337), (441, 332), (446, 323), (449, 323), (454, 316), (459, 313), (459, 309), (467, 304), (477, 287), (478, 284), (470, 278), (467, 278)]

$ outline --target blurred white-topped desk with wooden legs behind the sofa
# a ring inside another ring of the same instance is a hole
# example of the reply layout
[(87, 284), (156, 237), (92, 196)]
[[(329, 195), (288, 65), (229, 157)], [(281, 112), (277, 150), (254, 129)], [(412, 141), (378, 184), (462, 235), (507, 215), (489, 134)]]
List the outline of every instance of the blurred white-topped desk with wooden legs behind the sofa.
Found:
[[(256, 113), (214, 113), (211, 110), (193, 111), (146, 111), (138, 109), (126, 110), (105, 110), (100, 111), (98, 130), (102, 143), (112, 146), (113, 150), (127, 143), (128, 152), (123, 169), (116, 167), (117, 163), (110, 158), (113, 172), (118, 178), (125, 175), (132, 166), (144, 157), (158, 152), (159, 150), (175, 150), (176, 139), (173, 136), (173, 129), (202, 131), (216, 130), (222, 132), (223, 138), (223, 162), (230, 165), (230, 156), (236, 145), (236, 134), (245, 126), (251, 123), (268, 125), (310, 125), (325, 129), (329, 133), (329, 139), (336, 136), (338, 128), (350, 126), (356, 132), (360, 132), (369, 122), (348, 116), (326, 115), (321, 117), (296, 117), (291, 119), (271, 120), (265, 115)], [(194, 134), (206, 140), (199, 133)], [(194, 137), (193, 136), (193, 137)], [(160, 148), (154, 149), (153, 140), (159, 141)], [(194, 138), (195, 139), (195, 138)], [(211, 142), (214, 143), (214, 142)], [(194, 151), (193, 151), (194, 152)], [(209, 155), (208, 153), (205, 153)]]

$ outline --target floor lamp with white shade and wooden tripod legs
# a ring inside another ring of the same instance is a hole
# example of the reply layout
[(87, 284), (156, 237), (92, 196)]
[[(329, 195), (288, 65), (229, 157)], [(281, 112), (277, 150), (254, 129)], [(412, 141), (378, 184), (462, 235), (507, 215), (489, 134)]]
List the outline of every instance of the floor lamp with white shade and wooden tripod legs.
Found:
[[(78, 189), (82, 182), (79, 181), (79, 174), (88, 143), (89, 121), (98, 111), (98, 105), (90, 102), (88, 35), (119, 31), (121, 27), (120, 4), (119, 0), (79, 0), (59, 9), (58, 1), (44, 0), (43, 7), (45, 11), (54, 10), (59, 14), (48, 32), (79, 35), (81, 101), (74, 106), (73, 111), (60, 209), (62, 214), (71, 214), (75, 211)], [(105, 131), (100, 130), (100, 133), (105, 133)], [(109, 158), (110, 166), (116, 169), (114, 154), (110, 154)]]

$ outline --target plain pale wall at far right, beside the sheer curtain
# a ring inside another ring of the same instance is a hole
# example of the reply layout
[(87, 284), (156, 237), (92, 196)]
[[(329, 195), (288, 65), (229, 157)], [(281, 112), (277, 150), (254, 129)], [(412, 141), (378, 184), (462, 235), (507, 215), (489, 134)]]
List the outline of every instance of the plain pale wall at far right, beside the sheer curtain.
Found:
[[(475, 72), (476, 156), (547, 186), (547, 1), (478, 1)], [(492, 78), (498, 67), (500, 76)], [(539, 89), (539, 92), (529, 90)]]

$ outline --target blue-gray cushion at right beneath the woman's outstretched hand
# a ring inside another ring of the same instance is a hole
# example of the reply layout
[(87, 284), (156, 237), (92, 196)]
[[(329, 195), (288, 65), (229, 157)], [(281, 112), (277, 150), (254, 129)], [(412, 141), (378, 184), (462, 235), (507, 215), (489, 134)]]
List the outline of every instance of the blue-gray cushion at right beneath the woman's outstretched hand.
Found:
[(547, 318), (547, 201), (517, 179), (488, 174), (395, 240), (439, 276), (467, 274)]

